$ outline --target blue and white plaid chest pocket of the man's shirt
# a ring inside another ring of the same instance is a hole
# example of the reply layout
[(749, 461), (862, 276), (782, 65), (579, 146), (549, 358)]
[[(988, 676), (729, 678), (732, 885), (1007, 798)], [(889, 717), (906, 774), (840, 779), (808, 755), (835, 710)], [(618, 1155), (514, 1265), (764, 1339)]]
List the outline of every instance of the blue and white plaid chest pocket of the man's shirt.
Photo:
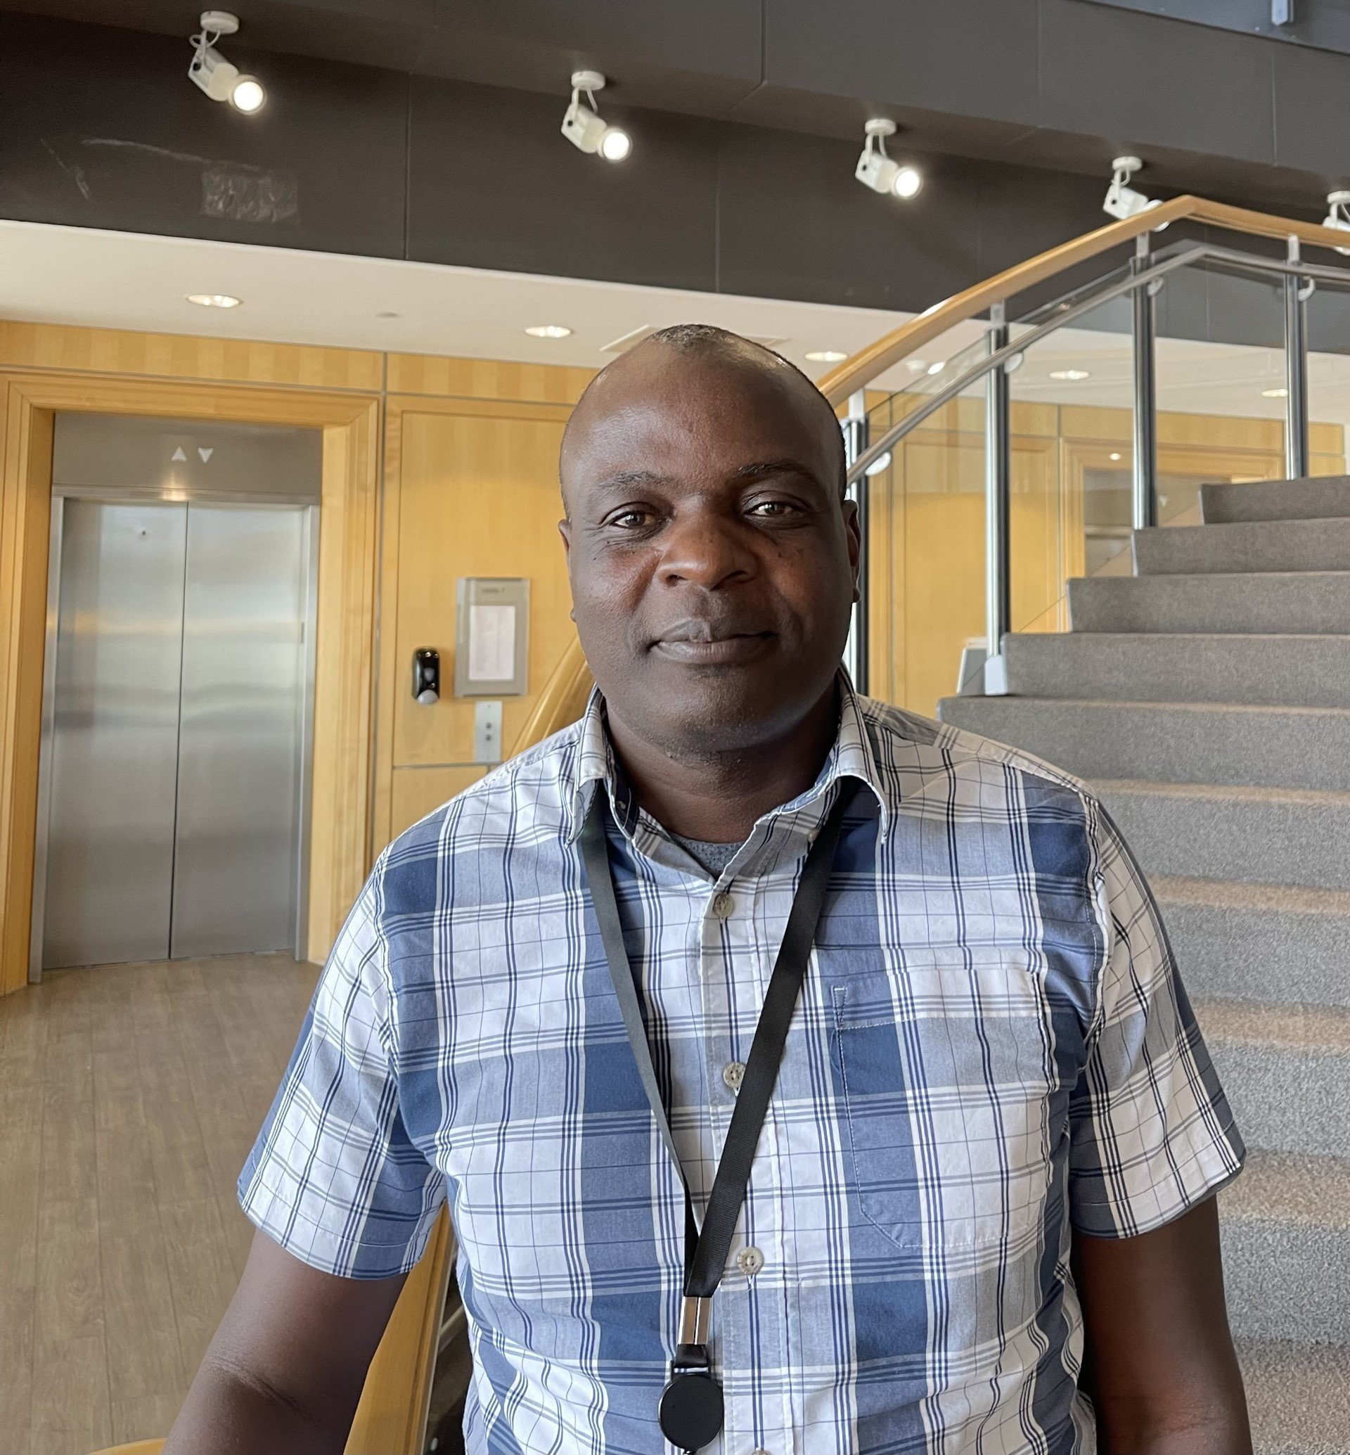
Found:
[(900, 1247), (1039, 1237), (1050, 1186), (1050, 1018), (1017, 956), (831, 988), (845, 1170)]

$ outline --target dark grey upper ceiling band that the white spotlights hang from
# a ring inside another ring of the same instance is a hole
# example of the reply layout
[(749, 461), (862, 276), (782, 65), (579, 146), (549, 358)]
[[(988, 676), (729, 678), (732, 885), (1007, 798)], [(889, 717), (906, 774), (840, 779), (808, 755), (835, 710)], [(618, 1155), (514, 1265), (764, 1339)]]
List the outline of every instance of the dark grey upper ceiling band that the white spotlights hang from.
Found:
[[(1350, 57), (1097, 0), (237, 3), (231, 52), (556, 96), (585, 64), (614, 79), (611, 105), (848, 140), (882, 112), (921, 151), (1097, 176), (1139, 150), (1155, 188), (1283, 207), (1315, 208), (1350, 179)], [(198, 19), (183, 0), (10, 9), (185, 42)]]

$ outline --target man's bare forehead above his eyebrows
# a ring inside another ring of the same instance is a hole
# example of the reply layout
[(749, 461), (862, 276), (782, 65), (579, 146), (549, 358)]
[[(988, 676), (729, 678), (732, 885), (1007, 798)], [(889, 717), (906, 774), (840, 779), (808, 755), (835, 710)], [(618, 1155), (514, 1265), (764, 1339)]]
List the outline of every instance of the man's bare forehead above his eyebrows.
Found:
[(671, 477), (729, 473), (780, 457), (819, 471), (822, 483), (832, 477), (838, 426), (804, 381), (735, 361), (653, 354), (611, 365), (578, 407), (563, 444), (564, 486), (639, 467)]

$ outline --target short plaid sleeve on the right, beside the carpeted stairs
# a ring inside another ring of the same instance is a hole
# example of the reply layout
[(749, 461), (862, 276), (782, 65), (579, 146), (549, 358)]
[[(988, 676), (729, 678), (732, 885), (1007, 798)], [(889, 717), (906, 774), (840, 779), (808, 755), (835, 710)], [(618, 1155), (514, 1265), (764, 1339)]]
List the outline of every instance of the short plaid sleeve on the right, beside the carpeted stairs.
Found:
[(1074, 1227), (1149, 1232), (1231, 1181), (1245, 1148), (1154, 896), (1094, 803), (1104, 953), (1087, 1064), (1069, 1103)]

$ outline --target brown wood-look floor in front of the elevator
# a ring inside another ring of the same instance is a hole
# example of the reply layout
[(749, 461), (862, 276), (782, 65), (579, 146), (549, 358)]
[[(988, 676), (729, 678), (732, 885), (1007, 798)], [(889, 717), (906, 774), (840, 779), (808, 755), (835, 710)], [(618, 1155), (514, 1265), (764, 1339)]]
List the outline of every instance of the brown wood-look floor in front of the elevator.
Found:
[(0, 1455), (166, 1435), (234, 1292), (234, 1180), (319, 975), (48, 972), (0, 1000)]

